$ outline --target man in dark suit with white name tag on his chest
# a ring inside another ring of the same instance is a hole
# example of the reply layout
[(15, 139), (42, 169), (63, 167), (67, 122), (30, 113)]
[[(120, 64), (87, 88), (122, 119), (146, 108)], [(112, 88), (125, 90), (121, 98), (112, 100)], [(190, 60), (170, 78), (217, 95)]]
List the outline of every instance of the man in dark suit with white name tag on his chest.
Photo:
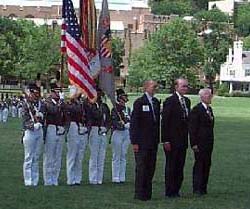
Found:
[(130, 139), (136, 163), (135, 199), (150, 200), (159, 143), (160, 102), (154, 97), (157, 83), (146, 81), (145, 93), (133, 105)]

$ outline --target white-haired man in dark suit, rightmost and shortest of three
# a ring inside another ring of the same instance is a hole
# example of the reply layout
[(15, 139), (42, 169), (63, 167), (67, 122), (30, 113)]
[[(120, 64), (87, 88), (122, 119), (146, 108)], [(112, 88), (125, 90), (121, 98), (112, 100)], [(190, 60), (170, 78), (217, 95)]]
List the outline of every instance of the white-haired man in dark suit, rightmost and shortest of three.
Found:
[(190, 144), (194, 151), (193, 193), (207, 194), (207, 183), (211, 166), (214, 144), (214, 115), (210, 107), (212, 93), (210, 89), (201, 89), (201, 102), (190, 113)]

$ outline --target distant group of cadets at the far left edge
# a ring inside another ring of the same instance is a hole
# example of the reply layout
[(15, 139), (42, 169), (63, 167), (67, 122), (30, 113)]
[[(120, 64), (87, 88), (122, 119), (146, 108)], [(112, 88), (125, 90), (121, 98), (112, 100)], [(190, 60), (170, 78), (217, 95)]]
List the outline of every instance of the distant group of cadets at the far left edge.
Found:
[(22, 104), (22, 96), (13, 96), (0, 101), (0, 122), (6, 123), (9, 116), (21, 118)]

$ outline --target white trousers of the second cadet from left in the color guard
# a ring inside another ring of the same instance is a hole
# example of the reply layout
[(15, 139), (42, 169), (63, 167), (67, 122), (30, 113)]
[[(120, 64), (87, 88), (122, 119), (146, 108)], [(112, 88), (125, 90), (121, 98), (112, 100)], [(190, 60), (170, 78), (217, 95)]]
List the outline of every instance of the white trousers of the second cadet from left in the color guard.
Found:
[(43, 154), (44, 185), (58, 185), (64, 135), (56, 134), (56, 126), (48, 125)]

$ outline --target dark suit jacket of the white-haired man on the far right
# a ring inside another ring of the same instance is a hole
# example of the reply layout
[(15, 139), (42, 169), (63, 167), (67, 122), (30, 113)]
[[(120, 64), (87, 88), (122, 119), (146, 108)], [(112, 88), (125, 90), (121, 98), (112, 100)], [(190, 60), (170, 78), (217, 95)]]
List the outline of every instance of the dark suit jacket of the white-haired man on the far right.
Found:
[(190, 113), (189, 132), (191, 146), (198, 145), (200, 150), (212, 149), (214, 143), (214, 115), (212, 117), (202, 103), (197, 104)]

